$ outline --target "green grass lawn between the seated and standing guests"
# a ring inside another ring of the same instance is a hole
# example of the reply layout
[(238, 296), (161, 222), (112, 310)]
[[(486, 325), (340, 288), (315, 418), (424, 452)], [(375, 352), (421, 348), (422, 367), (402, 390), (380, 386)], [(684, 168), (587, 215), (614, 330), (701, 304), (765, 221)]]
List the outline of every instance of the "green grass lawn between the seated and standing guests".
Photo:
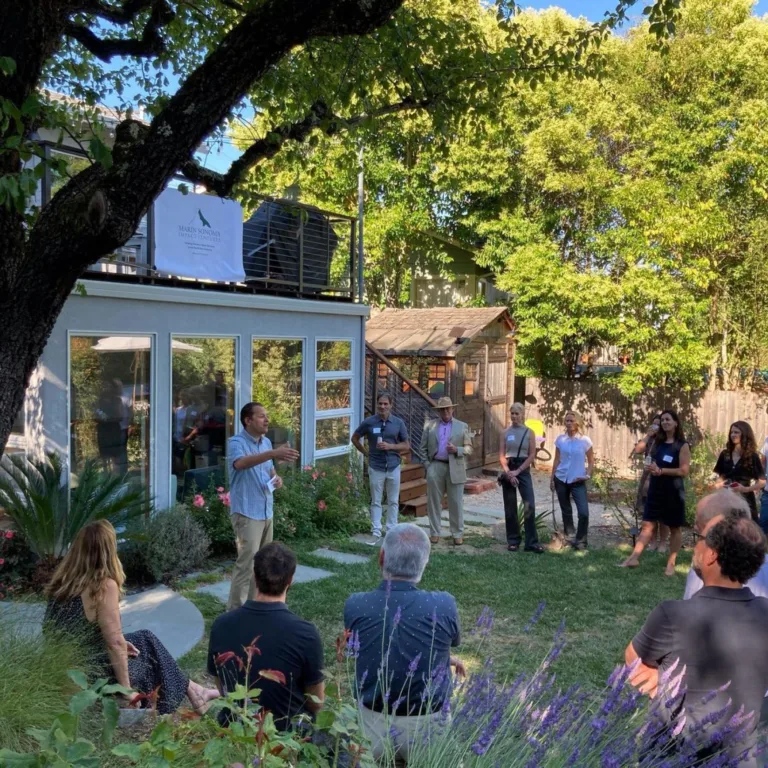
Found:
[[(303, 564), (334, 571), (336, 576), (296, 585), (289, 592), (288, 605), (317, 625), (330, 664), (335, 638), (342, 629), (345, 599), (352, 592), (375, 587), (380, 574), (370, 548), (334, 543), (337, 549), (371, 555), (367, 566), (345, 566), (310, 555), (317, 546), (318, 542), (312, 542), (294, 548)], [(627, 553), (627, 547), (542, 556), (489, 549), (467, 555), (449, 550), (432, 555), (421, 586), (447, 590), (456, 597), (467, 641), (459, 655), (470, 668), (490, 652), (499, 675), (535, 669), (565, 618), (567, 645), (555, 666), (559, 684), (600, 686), (622, 660), (624, 648), (651, 609), (661, 600), (682, 596), (690, 564), (690, 552), (681, 553), (678, 575), (669, 579), (663, 576), (665, 558), (653, 553), (645, 555), (638, 569), (617, 568)], [(184, 594), (201, 609), (207, 626), (224, 610), (214, 598), (189, 591)], [(540, 621), (524, 633), (541, 600), (546, 601), (546, 609)], [(478, 654), (470, 633), (484, 606), (496, 618), (490, 641)], [(204, 670), (205, 643), (204, 639), (182, 660), (192, 675), (199, 676)]]

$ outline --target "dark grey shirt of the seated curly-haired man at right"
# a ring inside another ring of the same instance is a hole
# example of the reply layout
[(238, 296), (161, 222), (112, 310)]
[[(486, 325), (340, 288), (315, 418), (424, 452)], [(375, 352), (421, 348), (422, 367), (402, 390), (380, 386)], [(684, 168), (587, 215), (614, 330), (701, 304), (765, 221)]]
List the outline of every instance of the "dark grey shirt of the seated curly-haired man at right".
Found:
[[(729, 753), (739, 754), (753, 743), (768, 689), (768, 599), (755, 597), (746, 587), (702, 587), (690, 600), (667, 600), (654, 608), (632, 646), (644, 664), (662, 672), (679, 659), (673, 678), (685, 667), (686, 694), (680, 706), (685, 708), (689, 735), (696, 733), (697, 722), (726, 707), (730, 698), (730, 707), (707, 726), (707, 735), (722, 729), (743, 706), (745, 713), (755, 713), (752, 735)], [(729, 682), (726, 690), (718, 690)], [(679, 707), (661, 711), (671, 716)]]

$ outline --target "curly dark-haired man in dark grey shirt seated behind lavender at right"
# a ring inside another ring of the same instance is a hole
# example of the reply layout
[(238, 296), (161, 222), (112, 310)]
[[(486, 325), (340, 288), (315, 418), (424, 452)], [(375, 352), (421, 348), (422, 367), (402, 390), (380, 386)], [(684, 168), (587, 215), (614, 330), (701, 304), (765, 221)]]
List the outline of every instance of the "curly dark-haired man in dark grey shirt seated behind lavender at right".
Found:
[[(714, 518), (702, 534), (693, 568), (704, 586), (690, 600), (658, 605), (627, 646), (625, 660), (640, 659), (632, 683), (655, 696), (659, 671), (679, 659), (672, 677), (685, 670), (685, 695), (676, 707), (663, 706), (660, 712), (672, 719), (685, 709), (683, 736), (694, 740), (701, 758), (724, 749), (735, 759), (751, 750), (739, 762), (751, 768), (757, 765), (753, 747), (768, 688), (768, 600), (743, 585), (763, 564), (765, 539), (751, 520), (730, 513)], [(739, 731), (727, 724), (740, 708), (749, 716), (740, 738), (718, 743), (717, 734)]]

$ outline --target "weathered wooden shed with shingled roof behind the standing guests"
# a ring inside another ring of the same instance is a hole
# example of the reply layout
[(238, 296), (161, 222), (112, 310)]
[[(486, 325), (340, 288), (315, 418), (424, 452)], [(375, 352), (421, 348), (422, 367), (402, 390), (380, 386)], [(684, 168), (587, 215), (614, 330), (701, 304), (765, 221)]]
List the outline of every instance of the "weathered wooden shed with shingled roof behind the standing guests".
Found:
[[(456, 403), (456, 416), (475, 433), (469, 469), (498, 463), (515, 391), (514, 325), (505, 307), (386, 309), (368, 321), (365, 338), (405, 374), (403, 391), (410, 380)], [(367, 375), (374, 369), (378, 391), (392, 385), (385, 363), (366, 366)]]

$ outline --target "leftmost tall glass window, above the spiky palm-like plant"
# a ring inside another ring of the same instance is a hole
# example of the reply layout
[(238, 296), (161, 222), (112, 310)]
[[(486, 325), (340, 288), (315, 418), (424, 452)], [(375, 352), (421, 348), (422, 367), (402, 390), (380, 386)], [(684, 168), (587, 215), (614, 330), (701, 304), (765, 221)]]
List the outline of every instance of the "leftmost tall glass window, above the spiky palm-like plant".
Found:
[(148, 485), (152, 338), (70, 338), (71, 481), (87, 460)]

